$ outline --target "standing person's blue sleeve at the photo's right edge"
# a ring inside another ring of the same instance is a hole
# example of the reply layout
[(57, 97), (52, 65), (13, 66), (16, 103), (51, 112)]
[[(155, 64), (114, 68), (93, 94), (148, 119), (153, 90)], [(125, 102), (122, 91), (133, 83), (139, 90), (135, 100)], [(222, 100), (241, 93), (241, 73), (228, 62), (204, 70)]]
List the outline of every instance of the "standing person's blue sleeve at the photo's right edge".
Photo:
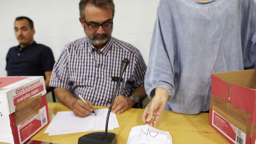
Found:
[(242, 47), (244, 69), (256, 69), (256, 4), (249, 1), (249, 7), (242, 18)]

